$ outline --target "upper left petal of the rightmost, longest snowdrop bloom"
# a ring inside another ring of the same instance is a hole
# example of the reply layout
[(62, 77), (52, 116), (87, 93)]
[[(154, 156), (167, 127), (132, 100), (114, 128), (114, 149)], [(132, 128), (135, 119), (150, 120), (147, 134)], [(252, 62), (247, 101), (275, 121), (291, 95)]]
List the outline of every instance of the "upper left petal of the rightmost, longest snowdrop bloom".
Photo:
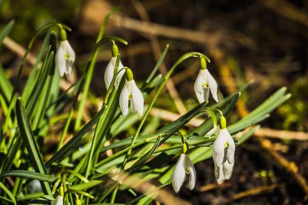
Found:
[(214, 163), (220, 167), (224, 159), (224, 144), (226, 143), (225, 132), (223, 129), (220, 129), (218, 136), (213, 144), (213, 160)]

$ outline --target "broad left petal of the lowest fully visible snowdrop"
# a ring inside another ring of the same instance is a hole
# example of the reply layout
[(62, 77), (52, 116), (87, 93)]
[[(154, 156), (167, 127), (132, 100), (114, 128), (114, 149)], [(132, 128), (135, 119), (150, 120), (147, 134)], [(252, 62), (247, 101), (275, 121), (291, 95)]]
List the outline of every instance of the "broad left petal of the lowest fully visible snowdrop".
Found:
[(172, 172), (172, 186), (176, 193), (178, 193), (183, 185), (186, 177), (185, 167), (184, 167), (185, 154), (181, 154), (180, 158)]

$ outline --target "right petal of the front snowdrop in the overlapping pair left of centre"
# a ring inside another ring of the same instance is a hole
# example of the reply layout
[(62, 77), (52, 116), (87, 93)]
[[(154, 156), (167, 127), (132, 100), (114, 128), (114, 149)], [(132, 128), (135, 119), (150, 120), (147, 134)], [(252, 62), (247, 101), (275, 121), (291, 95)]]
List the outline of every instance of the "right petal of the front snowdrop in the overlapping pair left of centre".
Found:
[(132, 82), (132, 92), (131, 92), (131, 102), (130, 102), (131, 112), (135, 113), (137, 111), (139, 116), (142, 116), (143, 106), (144, 106), (143, 105), (144, 98), (142, 92), (139, 90), (134, 80), (130, 82)]

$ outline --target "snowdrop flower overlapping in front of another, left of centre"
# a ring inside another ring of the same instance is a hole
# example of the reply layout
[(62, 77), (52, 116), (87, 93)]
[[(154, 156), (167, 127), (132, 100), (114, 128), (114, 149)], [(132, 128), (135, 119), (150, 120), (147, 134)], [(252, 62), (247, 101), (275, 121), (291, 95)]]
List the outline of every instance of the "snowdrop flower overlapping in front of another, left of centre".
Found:
[(137, 87), (131, 70), (127, 68), (125, 73), (126, 80), (120, 93), (120, 109), (123, 116), (126, 116), (128, 113), (128, 101), (130, 100), (131, 112), (137, 112), (139, 116), (142, 116), (144, 102), (142, 92)]

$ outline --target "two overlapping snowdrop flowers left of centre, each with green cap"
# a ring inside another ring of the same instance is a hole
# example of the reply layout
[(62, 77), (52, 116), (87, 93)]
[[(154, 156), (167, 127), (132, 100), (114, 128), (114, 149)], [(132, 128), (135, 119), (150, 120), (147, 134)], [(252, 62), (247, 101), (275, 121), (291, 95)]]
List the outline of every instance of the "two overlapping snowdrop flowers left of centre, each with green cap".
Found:
[[(105, 80), (105, 85), (107, 90), (109, 89), (113, 76), (114, 76), (114, 72), (115, 72), (115, 67), (116, 67), (116, 61), (117, 61), (117, 56), (118, 56), (118, 47), (116, 44), (114, 44), (112, 46), (112, 58), (110, 59), (106, 70), (105, 70), (105, 75), (104, 75), (104, 80)], [(120, 109), (121, 112), (123, 114), (123, 116), (126, 116), (128, 113), (128, 102), (130, 100), (130, 107), (131, 107), (131, 112), (135, 113), (137, 112), (139, 114), (139, 116), (142, 116), (143, 114), (143, 107), (144, 107), (144, 98), (142, 95), (142, 92), (139, 90), (139, 88), (137, 87), (135, 81), (134, 81), (134, 77), (133, 77), (133, 73), (132, 71), (123, 66), (121, 60), (119, 63), (119, 69), (118, 69), (118, 73), (116, 76), (116, 80), (115, 80), (115, 88), (118, 89), (121, 79), (123, 77), (123, 75), (126, 75), (126, 80), (125, 80), (125, 84), (124, 87), (121, 91), (120, 94), (120, 100), (119, 100), (119, 104), (120, 104)]]

